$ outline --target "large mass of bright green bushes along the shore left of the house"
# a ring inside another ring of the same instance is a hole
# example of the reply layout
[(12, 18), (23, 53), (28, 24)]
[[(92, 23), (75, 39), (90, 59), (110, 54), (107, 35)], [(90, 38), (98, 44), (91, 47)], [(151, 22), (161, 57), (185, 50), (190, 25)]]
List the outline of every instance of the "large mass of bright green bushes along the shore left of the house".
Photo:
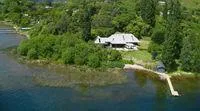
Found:
[(121, 53), (106, 50), (93, 42), (84, 42), (72, 34), (62, 36), (40, 35), (26, 40), (18, 47), (18, 53), (29, 59), (50, 59), (64, 64), (88, 65), (97, 68), (102, 61), (106, 67), (122, 67)]

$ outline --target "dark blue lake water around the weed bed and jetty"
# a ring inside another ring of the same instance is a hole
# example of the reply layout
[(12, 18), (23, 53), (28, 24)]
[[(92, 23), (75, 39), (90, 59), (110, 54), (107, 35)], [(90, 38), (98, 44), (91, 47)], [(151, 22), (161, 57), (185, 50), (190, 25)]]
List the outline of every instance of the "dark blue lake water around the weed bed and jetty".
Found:
[[(6, 29), (6, 30), (5, 30)], [(35, 73), (56, 73), (18, 63), (2, 49), (24, 38), (0, 25), (0, 111), (200, 111), (200, 79), (173, 80), (182, 94), (170, 95), (165, 81), (125, 71), (129, 81), (96, 88), (50, 88), (32, 81)]]

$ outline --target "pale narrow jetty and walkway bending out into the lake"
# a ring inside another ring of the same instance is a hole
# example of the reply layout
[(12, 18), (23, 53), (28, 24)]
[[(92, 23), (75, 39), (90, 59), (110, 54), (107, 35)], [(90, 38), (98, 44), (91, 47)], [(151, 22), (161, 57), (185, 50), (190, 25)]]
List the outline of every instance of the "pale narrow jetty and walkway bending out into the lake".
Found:
[(150, 70), (150, 69), (146, 69), (146, 68), (144, 68), (143, 66), (140, 66), (140, 65), (126, 64), (126, 65), (124, 66), (124, 69), (143, 70), (143, 71), (147, 71), (147, 72), (150, 72), (150, 73), (157, 74), (157, 75), (159, 75), (162, 79), (167, 80), (167, 83), (168, 83), (168, 85), (169, 85), (169, 89), (170, 89), (170, 92), (171, 92), (172, 96), (179, 96), (179, 93), (178, 93), (177, 91), (174, 90), (174, 87), (173, 87), (172, 82), (171, 82), (171, 80), (170, 80), (171, 76), (169, 76), (168, 74), (159, 73), (159, 72), (156, 72), (156, 71), (153, 71), (153, 70)]

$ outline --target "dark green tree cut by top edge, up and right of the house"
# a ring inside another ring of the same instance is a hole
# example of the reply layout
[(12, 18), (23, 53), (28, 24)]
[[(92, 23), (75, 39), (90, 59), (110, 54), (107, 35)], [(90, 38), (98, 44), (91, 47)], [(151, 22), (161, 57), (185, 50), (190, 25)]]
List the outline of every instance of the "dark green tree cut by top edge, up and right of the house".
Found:
[(156, 0), (140, 0), (140, 14), (142, 19), (152, 27), (155, 26)]

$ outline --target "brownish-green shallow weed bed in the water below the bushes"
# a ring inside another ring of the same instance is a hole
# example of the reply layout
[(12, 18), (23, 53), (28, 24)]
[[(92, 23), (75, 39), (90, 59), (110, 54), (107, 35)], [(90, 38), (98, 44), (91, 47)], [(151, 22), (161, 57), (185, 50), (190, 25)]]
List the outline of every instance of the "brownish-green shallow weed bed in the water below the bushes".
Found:
[(50, 60), (28, 60), (12, 53), (10, 53), (10, 56), (27, 66), (44, 68), (51, 72), (33, 75), (32, 80), (39, 86), (73, 88), (74, 86), (84, 85), (102, 87), (124, 84), (128, 80), (121, 68), (95, 69), (88, 66), (65, 65)]

